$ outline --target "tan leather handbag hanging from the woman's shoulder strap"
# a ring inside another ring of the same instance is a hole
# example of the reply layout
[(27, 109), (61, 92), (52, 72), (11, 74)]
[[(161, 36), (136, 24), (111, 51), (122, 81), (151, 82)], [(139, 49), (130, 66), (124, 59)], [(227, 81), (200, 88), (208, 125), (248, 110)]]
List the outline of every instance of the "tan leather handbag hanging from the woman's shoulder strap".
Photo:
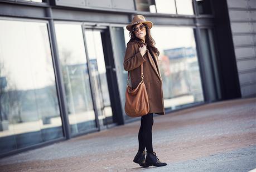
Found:
[(124, 110), (125, 113), (129, 117), (141, 117), (143, 115), (148, 114), (149, 112), (149, 102), (148, 102), (148, 94), (146, 90), (146, 85), (143, 81), (143, 63), (141, 64), (141, 82), (135, 89), (132, 89), (129, 84), (129, 71), (128, 71), (128, 79), (127, 79), (127, 87), (125, 92), (125, 105)]

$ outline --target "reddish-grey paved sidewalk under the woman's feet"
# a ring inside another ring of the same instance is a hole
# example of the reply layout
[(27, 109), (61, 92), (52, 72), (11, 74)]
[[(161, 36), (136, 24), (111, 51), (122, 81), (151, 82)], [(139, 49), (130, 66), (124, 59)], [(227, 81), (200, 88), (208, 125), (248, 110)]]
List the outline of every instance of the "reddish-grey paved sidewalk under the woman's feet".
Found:
[(249, 171), (256, 168), (256, 98), (154, 116), (153, 149), (168, 165), (141, 168), (140, 121), (0, 159), (0, 171)]

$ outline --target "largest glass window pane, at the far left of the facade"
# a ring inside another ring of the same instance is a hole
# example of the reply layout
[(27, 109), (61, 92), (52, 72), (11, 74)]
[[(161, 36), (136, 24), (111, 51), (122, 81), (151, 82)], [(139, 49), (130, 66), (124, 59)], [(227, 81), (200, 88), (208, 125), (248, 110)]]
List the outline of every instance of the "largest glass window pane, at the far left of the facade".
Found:
[(47, 24), (0, 21), (0, 153), (63, 136)]

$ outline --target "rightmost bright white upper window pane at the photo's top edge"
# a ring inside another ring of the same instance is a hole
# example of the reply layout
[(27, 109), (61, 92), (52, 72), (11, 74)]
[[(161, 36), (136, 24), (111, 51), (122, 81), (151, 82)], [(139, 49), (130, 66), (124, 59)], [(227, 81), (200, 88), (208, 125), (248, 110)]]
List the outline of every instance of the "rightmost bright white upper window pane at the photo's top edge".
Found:
[(193, 1), (192, 0), (176, 0), (176, 7), (178, 14), (193, 15)]

